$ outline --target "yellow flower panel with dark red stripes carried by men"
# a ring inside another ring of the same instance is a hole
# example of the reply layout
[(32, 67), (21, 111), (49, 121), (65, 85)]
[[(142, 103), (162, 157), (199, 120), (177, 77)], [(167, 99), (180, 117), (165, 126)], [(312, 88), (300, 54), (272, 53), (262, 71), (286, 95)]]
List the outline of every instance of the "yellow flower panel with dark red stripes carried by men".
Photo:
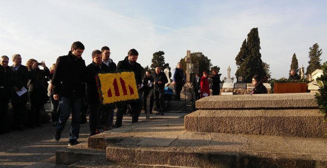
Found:
[(133, 72), (98, 74), (96, 81), (100, 102), (103, 104), (139, 98)]

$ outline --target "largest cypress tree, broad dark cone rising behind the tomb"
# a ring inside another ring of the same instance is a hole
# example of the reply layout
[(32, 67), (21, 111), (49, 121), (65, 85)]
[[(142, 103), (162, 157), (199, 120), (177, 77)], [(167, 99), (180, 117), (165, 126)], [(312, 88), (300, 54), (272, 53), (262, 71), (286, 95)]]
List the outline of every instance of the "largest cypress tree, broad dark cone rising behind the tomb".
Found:
[(264, 69), (263, 61), (261, 60), (261, 47), (258, 28), (253, 28), (250, 31), (246, 46), (244, 42), (239, 54), (235, 58), (236, 65), (241, 63), (235, 73), (235, 76), (242, 76), (245, 83), (251, 83), (253, 76), (258, 75), (265, 77), (267, 75)]

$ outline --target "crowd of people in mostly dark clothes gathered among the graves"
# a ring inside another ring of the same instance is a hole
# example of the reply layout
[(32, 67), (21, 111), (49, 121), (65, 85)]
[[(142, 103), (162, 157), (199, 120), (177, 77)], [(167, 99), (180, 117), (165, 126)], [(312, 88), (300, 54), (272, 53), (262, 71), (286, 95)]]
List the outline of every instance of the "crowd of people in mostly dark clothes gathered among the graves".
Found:
[[(164, 115), (164, 86), (168, 83), (166, 75), (160, 67), (156, 67), (152, 74), (146, 71), (142, 80), (142, 67), (137, 63), (138, 51), (130, 49), (127, 56), (117, 64), (110, 58), (110, 49), (104, 46), (101, 50), (92, 52), (92, 63), (85, 64), (82, 54), (85, 47), (82, 42), (73, 42), (67, 55), (59, 56), (56, 63), (50, 69), (44, 61), (38, 62), (29, 59), (26, 66), (22, 65), (22, 58), (19, 54), (12, 56), (12, 66), (8, 66), (9, 57), (3, 55), (0, 60), (0, 134), (8, 133), (7, 115), (9, 100), (14, 114), (14, 126), (22, 131), (26, 126), (35, 128), (41, 127), (40, 114), (44, 110), (44, 104), (49, 100), (51, 103), (51, 119), (55, 126), (54, 139), (59, 141), (61, 132), (71, 115), (68, 146), (78, 144), (79, 128), (81, 123), (86, 123), (86, 111), (89, 113), (90, 135), (99, 133), (100, 129), (108, 130), (110, 127), (121, 127), (123, 115), (129, 109), (132, 123), (138, 122), (142, 108), (146, 110), (146, 99), (151, 89), (154, 94), (150, 98), (150, 114), (152, 114), (153, 103), (156, 103), (157, 115)], [(42, 69), (40, 69), (40, 66)], [(130, 102), (117, 104), (116, 121), (113, 123), (115, 106), (106, 105), (100, 102), (98, 86), (95, 76), (100, 72), (134, 72), (138, 89), (138, 99)], [(212, 79), (209, 87), (208, 77)], [(180, 92), (186, 82), (181, 63), (172, 73), (172, 84), (175, 86), (175, 100), (180, 101)], [(254, 77), (253, 81), (258, 82)], [(212, 71), (208, 76), (195, 74), (193, 87), (195, 99), (219, 94), (220, 79), (217, 70)], [(258, 87), (256, 93), (267, 93), (265, 86)], [(266, 90), (266, 91), (265, 91)], [(27, 102), (28, 125), (25, 125), (24, 116)]]

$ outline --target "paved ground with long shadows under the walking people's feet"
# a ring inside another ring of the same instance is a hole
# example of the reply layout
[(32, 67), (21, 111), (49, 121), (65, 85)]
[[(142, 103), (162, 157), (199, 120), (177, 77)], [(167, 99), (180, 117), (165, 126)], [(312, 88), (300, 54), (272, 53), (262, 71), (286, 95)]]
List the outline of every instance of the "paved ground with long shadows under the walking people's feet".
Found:
[[(164, 117), (184, 116), (187, 113), (165, 113)], [(155, 114), (151, 115), (155, 117)], [(140, 121), (145, 120), (144, 111)], [(115, 121), (115, 119), (114, 119)], [(43, 127), (26, 128), (24, 131), (12, 130), (8, 134), (0, 135), (0, 168), (23, 168), (39, 162), (55, 162), (55, 151), (68, 146), (70, 119), (61, 134), (59, 142), (54, 141), (55, 128), (52, 123)], [(131, 123), (129, 115), (124, 115), (123, 125)], [(89, 123), (80, 127), (79, 142), (85, 142), (90, 135)]]

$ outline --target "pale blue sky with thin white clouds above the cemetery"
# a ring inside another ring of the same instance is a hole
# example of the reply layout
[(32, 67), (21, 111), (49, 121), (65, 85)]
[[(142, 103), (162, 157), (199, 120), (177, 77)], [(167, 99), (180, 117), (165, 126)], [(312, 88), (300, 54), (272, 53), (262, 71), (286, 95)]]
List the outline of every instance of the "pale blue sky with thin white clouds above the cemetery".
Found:
[(187, 50), (202, 52), (222, 80), (228, 66), (235, 76), (252, 28), (274, 79), (288, 77), (294, 53), (306, 72), (315, 43), (327, 61), (326, 0), (0, 0), (0, 55), (21, 54), (24, 65), (34, 58), (51, 67), (80, 41), (86, 65), (103, 46), (115, 63), (135, 48), (143, 67), (163, 51), (172, 69)]

